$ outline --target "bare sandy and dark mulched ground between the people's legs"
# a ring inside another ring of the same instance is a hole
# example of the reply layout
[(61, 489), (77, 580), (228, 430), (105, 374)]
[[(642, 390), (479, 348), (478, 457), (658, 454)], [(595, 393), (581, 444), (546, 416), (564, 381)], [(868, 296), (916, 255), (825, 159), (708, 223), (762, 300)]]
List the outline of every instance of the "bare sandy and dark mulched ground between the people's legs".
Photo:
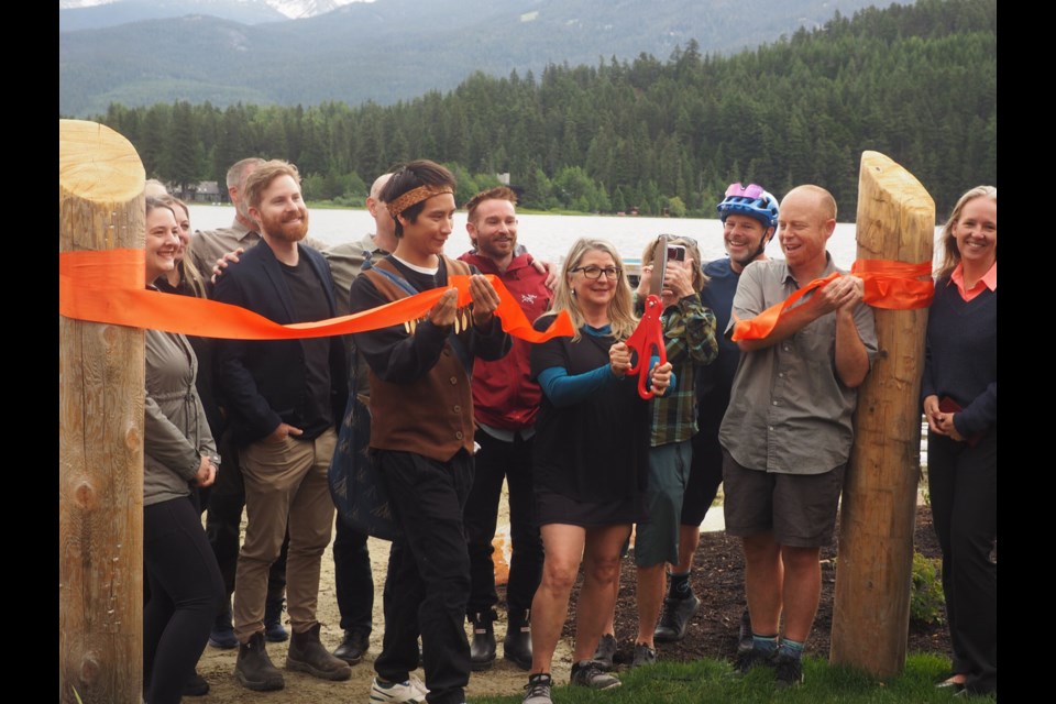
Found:
[[(721, 512), (721, 508), (713, 508)], [(938, 557), (938, 544), (932, 530), (931, 513), (921, 507), (916, 518), (916, 547), (927, 557)], [(207, 647), (198, 666), (198, 672), (209, 681), (211, 691), (204, 697), (186, 697), (185, 702), (201, 704), (300, 704), (304, 702), (332, 701), (342, 703), (363, 702), (370, 696), (371, 679), (374, 675), (373, 661), (381, 651), (384, 620), (382, 618), (382, 587), (388, 558), (388, 543), (380, 540), (370, 542), (371, 559), (374, 564), (376, 598), (374, 603), (374, 632), (371, 636), (371, 649), (363, 662), (352, 668), (352, 679), (348, 682), (326, 682), (307, 674), (284, 670), (286, 689), (279, 692), (257, 693), (243, 689), (234, 679), (237, 650), (218, 650)], [(822, 603), (815, 622), (814, 631), (807, 642), (807, 651), (827, 656), (829, 631), (832, 628), (833, 591), (836, 569), (832, 562), (835, 549), (823, 553), (822, 563)], [(330, 550), (323, 557), (322, 579), (319, 586), (319, 620), (322, 623), (322, 640), (330, 648), (337, 647), (341, 639), (339, 615), (333, 585), (333, 559)], [(686, 638), (679, 644), (661, 644), (658, 654), (667, 660), (694, 660), (697, 658), (732, 659), (736, 652), (737, 629), (744, 602), (744, 560), (739, 542), (727, 538), (723, 531), (704, 532), (696, 552), (695, 569), (692, 576), (694, 592), (702, 598), (703, 606), (694, 618)], [(616, 637), (619, 640), (617, 663), (629, 663), (634, 650), (634, 637), (637, 632), (637, 612), (635, 606), (634, 558), (624, 560), (620, 575), (619, 601), (616, 608)], [(579, 586), (576, 586), (576, 591)], [(495, 624), (496, 639), (502, 642), (505, 634), (504, 593), (499, 591), (499, 618)], [(574, 603), (558, 651), (554, 654), (553, 674), (557, 682), (566, 682), (571, 669), (572, 624), (574, 623)], [(469, 631), (468, 631), (469, 632)], [(502, 646), (499, 646), (499, 650)], [(910, 626), (909, 650), (922, 652), (949, 652), (949, 636), (945, 626)], [(283, 668), (285, 644), (268, 644), (273, 662)], [(425, 679), (419, 670), (418, 676)], [(474, 674), (470, 679), (468, 697), (492, 694), (515, 694), (522, 688), (526, 673), (516, 666), (499, 658), (488, 672)]]

